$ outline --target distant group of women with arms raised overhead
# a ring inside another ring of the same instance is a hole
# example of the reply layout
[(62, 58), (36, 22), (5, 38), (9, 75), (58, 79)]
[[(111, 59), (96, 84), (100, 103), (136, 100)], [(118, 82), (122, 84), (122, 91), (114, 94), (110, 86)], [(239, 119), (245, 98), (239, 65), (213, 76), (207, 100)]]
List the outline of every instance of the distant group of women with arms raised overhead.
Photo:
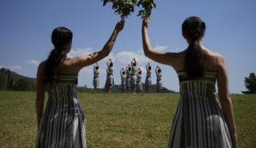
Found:
[[(106, 83), (105, 83), (105, 91), (106, 93), (111, 93), (112, 86), (114, 85), (114, 65), (111, 60), (111, 58), (106, 62), (107, 68), (106, 68)], [(94, 93), (96, 93), (96, 89), (98, 86), (98, 74), (99, 74), (99, 66), (98, 62), (94, 65)], [(151, 66), (150, 62), (146, 65), (146, 79), (145, 79), (145, 87), (146, 87), (146, 93), (150, 94), (150, 87), (151, 87)], [(162, 90), (162, 70), (159, 66), (155, 69), (155, 74), (157, 75), (157, 82), (156, 82), (156, 89), (157, 93), (161, 93)], [(120, 76), (121, 76), (121, 91), (122, 93), (131, 93), (135, 94), (135, 90), (137, 90), (137, 93), (142, 92), (142, 70), (137, 66), (137, 62), (135, 58), (131, 61), (131, 66), (128, 64), (126, 66), (126, 70), (122, 68), (120, 70)]]

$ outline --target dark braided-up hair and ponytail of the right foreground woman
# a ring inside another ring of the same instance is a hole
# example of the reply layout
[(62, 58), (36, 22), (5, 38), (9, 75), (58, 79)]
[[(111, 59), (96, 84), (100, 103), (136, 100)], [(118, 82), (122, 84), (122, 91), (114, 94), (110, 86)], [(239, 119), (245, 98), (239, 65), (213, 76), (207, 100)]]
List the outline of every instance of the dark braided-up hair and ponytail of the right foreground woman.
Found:
[(185, 71), (190, 78), (202, 77), (206, 72), (206, 55), (202, 54), (199, 40), (203, 31), (206, 30), (206, 23), (198, 17), (186, 18), (182, 24), (182, 32), (191, 40), (186, 52)]

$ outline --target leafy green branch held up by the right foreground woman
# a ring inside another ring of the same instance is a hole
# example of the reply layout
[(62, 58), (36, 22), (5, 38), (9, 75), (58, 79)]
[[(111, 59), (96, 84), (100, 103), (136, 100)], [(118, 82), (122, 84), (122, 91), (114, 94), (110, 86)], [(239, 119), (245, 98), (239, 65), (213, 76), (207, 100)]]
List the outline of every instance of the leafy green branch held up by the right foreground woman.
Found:
[(145, 18), (146, 16), (150, 16), (151, 10), (153, 8), (156, 8), (156, 4), (154, 3), (154, 0), (140, 0), (137, 6), (140, 6), (140, 5), (142, 5), (142, 8), (144, 8), (144, 10), (139, 10), (137, 16), (142, 15), (142, 18)]

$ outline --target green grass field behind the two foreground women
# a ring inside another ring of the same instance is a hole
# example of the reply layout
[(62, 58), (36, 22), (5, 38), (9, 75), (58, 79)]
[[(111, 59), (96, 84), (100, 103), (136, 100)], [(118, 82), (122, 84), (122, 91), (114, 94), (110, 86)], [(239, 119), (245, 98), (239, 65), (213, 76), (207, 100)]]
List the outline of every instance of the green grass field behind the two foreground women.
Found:
[[(256, 147), (256, 95), (231, 94), (238, 147)], [(179, 94), (78, 94), (87, 147), (166, 147)], [(35, 92), (0, 91), (0, 147), (34, 147)]]

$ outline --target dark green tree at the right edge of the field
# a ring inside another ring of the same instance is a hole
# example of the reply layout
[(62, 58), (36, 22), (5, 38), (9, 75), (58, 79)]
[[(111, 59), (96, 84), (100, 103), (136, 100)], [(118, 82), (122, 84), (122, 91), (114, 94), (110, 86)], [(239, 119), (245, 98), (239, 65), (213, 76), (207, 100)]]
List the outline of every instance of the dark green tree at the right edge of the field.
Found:
[(250, 73), (249, 78), (245, 80), (246, 89), (249, 91), (242, 91), (242, 94), (256, 94), (256, 76)]

